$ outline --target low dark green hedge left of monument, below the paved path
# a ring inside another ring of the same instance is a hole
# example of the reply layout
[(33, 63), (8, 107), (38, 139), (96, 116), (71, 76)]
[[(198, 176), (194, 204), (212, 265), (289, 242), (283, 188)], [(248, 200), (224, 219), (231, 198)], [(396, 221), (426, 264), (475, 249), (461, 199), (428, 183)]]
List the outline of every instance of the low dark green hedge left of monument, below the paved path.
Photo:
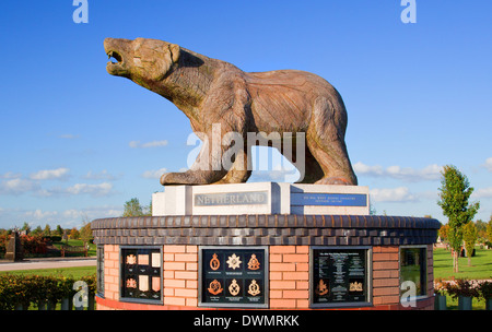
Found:
[[(82, 276), (80, 280), (87, 284), (89, 295), (95, 294), (95, 274)], [(19, 306), (28, 308), (31, 303), (56, 304), (63, 298), (72, 298), (80, 290), (73, 289), (77, 281), (71, 276), (1, 274), (0, 310), (13, 310)]]

